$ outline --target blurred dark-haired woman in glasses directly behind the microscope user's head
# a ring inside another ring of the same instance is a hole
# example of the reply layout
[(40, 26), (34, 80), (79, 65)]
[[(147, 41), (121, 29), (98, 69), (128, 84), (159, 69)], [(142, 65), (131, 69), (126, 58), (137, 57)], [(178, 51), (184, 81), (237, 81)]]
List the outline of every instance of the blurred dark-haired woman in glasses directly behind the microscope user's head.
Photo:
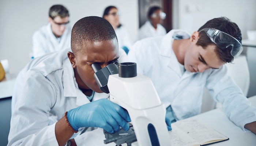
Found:
[(109, 6), (105, 8), (102, 18), (108, 20), (112, 25), (116, 32), (119, 47), (124, 49), (126, 54), (128, 54), (129, 49), (132, 47), (132, 43), (127, 28), (119, 22), (120, 15), (117, 7)]

